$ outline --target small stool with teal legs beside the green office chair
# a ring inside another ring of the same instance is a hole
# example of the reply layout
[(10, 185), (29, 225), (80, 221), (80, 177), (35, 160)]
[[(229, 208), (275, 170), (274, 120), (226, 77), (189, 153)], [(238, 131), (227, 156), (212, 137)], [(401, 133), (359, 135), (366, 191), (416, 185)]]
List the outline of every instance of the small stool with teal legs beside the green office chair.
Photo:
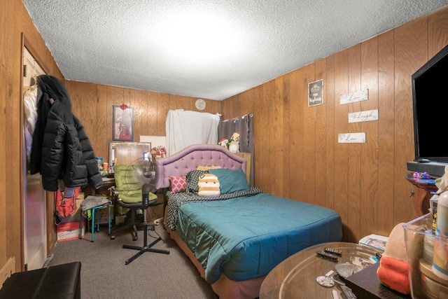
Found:
[[(99, 209), (103, 209), (107, 207), (108, 209), (108, 219), (107, 219), (107, 228), (108, 233), (111, 235), (111, 227), (112, 227), (112, 221), (111, 221), (111, 200), (109, 200), (108, 197), (98, 197), (98, 196), (87, 196), (85, 197), (84, 202), (81, 204), (81, 207), (83, 209), (83, 212), (80, 213), (80, 219), (79, 219), (79, 225), (80, 225), (80, 232), (79, 232), (79, 238), (82, 239), (82, 229), (83, 229), (83, 216), (84, 212), (91, 211), (92, 215), (92, 242), (94, 242), (94, 233), (95, 233), (95, 226), (97, 228), (97, 232), (99, 232)], [(97, 214), (97, 224), (95, 225), (95, 214)]]

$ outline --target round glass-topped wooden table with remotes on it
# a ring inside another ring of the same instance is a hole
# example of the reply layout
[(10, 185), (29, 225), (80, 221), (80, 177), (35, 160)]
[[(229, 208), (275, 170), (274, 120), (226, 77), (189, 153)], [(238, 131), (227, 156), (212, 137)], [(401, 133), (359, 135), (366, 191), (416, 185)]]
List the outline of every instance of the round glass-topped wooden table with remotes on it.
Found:
[[(316, 251), (325, 247), (331, 247), (342, 251), (342, 256), (337, 263), (316, 257)], [(332, 299), (332, 290), (339, 291), (339, 296), (344, 298), (337, 286), (327, 288), (317, 283), (316, 278), (325, 276), (330, 270), (335, 270), (338, 263), (355, 263), (361, 267), (367, 267), (377, 251), (354, 243), (330, 242), (308, 247), (286, 258), (274, 267), (260, 288), (260, 299), (270, 298), (328, 298)]]

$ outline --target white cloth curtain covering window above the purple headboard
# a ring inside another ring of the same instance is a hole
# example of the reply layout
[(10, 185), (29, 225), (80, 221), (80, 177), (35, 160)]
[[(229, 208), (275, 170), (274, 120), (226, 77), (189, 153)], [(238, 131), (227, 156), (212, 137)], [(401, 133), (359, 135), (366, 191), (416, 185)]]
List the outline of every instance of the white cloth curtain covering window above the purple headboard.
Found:
[(167, 155), (192, 144), (218, 144), (218, 125), (221, 115), (170, 110), (167, 114)]

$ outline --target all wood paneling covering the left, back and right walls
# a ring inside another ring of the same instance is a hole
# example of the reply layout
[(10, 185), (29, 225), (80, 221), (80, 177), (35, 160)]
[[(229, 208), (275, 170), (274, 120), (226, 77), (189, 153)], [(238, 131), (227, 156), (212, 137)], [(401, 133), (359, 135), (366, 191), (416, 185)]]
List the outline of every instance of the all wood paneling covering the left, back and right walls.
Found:
[[(195, 111), (193, 97), (65, 81), (20, 0), (0, 0), (0, 267), (15, 257), (23, 270), (21, 35), (50, 74), (70, 92), (95, 153), (108, 155), (112, 105), (134, 106), (134, 136), (165, 135), (170, 109)], [(254, 115), (255, 185), (263, 190), (335, 209), (344, 240), (388, 235), (412, 220), (404, 179), (412, 160), (410, 76), (448, 43), (448, 8), (284, 74), (223, 102), (207, 100), (205, 112), (223, 119)], [(307, 106), (307, 84), (323, 79), (324, 104)], [(339, 95), (369, 90), (369, 101), (339, 104)], [(347, 113), (379, 109), (379, 120), (348, 124)], [(366, 132), (366, 144), (338, 144), (337, 134)], [(49, 197), (48, 204), (52, 207)], [(48, 229), (54, 229), (52, 217)], [(49, 246), (54, 245), (54, 235)]]

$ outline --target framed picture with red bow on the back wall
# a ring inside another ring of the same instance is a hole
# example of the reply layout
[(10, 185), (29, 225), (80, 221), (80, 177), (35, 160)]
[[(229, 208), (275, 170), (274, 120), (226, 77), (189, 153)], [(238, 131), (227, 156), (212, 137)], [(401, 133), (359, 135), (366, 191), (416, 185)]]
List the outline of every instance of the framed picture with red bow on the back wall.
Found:
[(134, 141), (134, 108), (113, 105), (113, 137), (117, 141)]

